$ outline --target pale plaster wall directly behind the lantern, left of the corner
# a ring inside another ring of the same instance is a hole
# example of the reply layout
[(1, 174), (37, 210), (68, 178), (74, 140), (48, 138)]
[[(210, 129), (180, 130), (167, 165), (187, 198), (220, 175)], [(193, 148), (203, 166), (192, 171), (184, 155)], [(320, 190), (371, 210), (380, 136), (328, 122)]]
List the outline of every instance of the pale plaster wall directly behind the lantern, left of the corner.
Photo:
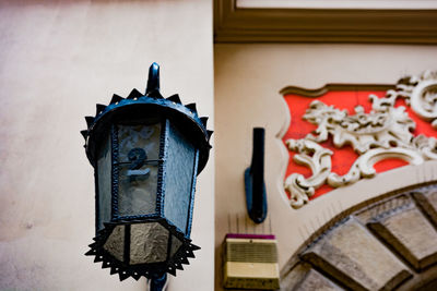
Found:
[[(145, 290), (85, 257), (93, 169), (80, 131), (113, 93), (179, 93), (213, 122), (212, 1), (0, 1), (0, 290)], [(202, 246), (169, 290), (213, 289), (214, 158), (192, 230)], [(170, 276), (172, 277), (172, 276)]]

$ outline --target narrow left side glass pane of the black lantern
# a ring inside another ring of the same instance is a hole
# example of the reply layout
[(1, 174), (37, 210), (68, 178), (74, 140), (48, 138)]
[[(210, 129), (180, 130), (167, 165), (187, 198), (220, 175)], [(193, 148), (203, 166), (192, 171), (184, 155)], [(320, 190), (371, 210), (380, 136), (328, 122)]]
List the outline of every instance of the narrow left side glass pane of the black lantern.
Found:
[(110, 135), (103, 143), (97, 158), (97, 231), (104, 228), (103, 222), (110, 220), (111, 210), (111, 146)]

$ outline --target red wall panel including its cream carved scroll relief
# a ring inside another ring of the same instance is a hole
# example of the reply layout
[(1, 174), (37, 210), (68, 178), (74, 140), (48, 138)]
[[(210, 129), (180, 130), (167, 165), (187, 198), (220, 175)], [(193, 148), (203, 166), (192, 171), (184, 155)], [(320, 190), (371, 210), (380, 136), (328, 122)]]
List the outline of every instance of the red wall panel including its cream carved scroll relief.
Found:
[[(298, 208), (334, 187), (437, 159), (437, 73), (395, 86), (283, 90), (292, 121), (284, 186)], [(312, 95), (309, 97), (308, 95)]]

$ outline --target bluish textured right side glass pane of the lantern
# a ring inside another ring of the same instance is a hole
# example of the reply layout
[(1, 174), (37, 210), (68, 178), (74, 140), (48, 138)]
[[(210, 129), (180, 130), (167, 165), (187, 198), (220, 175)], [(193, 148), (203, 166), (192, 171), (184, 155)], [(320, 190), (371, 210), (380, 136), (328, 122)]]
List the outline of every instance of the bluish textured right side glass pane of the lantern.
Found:
[(167, 148), (164, 215), (186, 233), (194, 177), (196, 148), (172, 124)]

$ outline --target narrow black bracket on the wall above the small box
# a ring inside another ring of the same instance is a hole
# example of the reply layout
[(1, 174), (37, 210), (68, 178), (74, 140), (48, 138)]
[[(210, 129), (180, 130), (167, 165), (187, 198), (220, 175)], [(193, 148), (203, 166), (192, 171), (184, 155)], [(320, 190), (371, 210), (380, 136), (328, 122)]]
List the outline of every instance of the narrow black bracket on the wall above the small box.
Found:
[(262, 128), (253, 129), (252, 163), (245, 171), (246, 206), (255, 223), (261, 223), (267, 217), (264, 133)]

